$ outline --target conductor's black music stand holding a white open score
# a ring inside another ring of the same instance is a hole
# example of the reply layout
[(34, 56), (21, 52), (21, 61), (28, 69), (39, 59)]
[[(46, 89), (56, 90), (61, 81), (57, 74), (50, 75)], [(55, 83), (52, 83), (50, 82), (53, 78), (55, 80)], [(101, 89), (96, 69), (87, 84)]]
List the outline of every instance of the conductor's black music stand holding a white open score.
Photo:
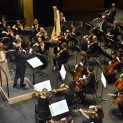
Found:
[(34, 85), (35, 84), (35, 71), (34, 70), (36, 68), (42, 66), (43, 63), (40, 61), (40, 59), (38, 57), (34, 57), (34, 58), (27, 60), (27, 63), (33, 70), (33, 85)]

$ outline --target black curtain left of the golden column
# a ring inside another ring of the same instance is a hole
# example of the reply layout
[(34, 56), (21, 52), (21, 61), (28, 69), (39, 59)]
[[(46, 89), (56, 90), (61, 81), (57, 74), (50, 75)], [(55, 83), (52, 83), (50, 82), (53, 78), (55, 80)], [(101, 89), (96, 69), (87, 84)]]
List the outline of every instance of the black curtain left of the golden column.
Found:
[(23, 10), (20, 0), (0, 0), (0, 16), (5, 15), (7, 20), (23, 19)]

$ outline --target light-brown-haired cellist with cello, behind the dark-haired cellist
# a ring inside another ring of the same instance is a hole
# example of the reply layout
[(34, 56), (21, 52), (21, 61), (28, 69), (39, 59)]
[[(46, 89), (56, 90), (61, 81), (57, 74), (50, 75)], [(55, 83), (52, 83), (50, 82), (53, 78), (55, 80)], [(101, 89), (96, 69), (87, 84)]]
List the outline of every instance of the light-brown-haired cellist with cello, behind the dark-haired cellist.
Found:
[(79, 64), (75, 65), (75, 70), (71, 71), (71, 74), (73, 75), (74, 81), (78, 81), (79, 77), (84, 74), (87, 74), (87, 54), (85, 51), (80, 51), (80, 58), (81, 61)]

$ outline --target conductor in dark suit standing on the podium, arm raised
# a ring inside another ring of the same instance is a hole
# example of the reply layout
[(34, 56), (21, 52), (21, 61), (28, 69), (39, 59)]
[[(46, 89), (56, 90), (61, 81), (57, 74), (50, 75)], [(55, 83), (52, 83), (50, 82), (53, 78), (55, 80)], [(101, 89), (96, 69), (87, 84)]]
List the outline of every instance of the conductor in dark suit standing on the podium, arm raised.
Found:
[(26, 59), (32, 53), (32, 49), (29, 50), (29, 54), (26, 55), (25, 52), (22, 51), (20, 44), (15, 45), (16, 53), (15, 53), (15, 62), (16, 62), (16, 74), (14, 79), (13, 88), (17, 87), (17, 80), (20, 78), (20, 88), (25, 87), (24, 84), (24, 76), (26, 71)]

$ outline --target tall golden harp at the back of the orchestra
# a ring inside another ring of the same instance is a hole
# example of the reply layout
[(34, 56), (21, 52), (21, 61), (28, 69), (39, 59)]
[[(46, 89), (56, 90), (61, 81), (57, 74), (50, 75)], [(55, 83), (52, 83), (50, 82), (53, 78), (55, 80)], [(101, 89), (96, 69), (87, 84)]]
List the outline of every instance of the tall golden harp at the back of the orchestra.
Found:
[(58, 36), (60, 35), (61, 32), (61, 27), (60, 27), (60, 12), (57, 10), (56, 6), (53, 6), (53, 11), (54, 11), (54, 27), (53, 31), (51, 34), (51, 42), (54, 44), (58, 44)]

